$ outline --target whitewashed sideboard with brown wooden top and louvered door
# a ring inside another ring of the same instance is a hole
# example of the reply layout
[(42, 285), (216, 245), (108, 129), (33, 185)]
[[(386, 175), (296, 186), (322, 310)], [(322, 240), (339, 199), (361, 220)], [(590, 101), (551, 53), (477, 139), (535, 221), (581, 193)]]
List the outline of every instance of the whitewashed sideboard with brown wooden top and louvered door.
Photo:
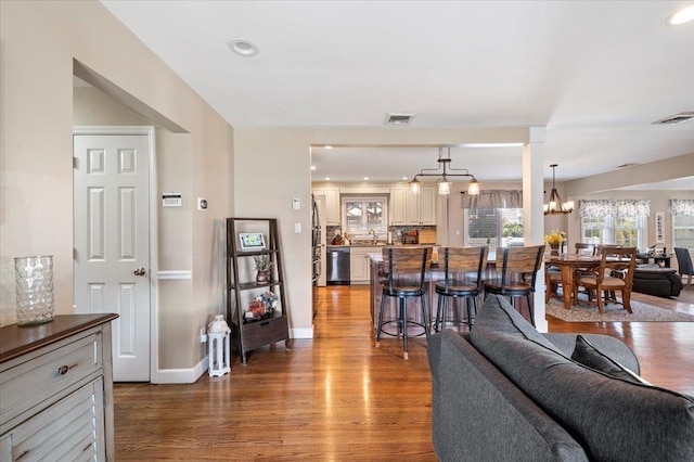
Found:
[(115, 460), (111, 321), (0, 329), (0, 460)]

